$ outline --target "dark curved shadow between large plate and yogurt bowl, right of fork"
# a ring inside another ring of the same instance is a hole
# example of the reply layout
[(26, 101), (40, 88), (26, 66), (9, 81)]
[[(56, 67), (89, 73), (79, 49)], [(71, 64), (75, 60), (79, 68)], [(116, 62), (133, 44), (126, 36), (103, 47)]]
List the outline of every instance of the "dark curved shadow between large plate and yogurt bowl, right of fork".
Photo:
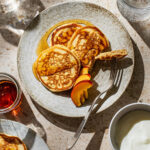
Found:
[[(135, 51), (135, 67), (132, 75), (131, 82), (126, 89), (125, 93), (121, 96), (121, 98), (114, 103), (110, 108), (106, 109), (102, 113), (93, 115), (91, 120), (98, 121), (95, 124), (95, 134), (92, 137), (91, 141), (89, 142), (86, 150), (92, 150), (94, 147), (94, 150), (99, 150), (100, 146), (102, 144), (102, 138), (103, 134), (106, 128), (109, 127), (110, 121), (114, 114), (122, 107), (124, 107), (127, 104), (137, 102), (139, 99), (143, 84), (144, 84), (144, 65), (143, 60), (140, 54), (140, 51), (136, 44), (133, 41), (134, 51)], [(141, 100), (142, 101), (142, 100)], [(90, 122), (90, 121), (89, 121)], [(93, 121), (94, 125), (94, 121)], [(88, 123), (87, 126), (93, 126)], [(97, 126), (97, 127), (96, 127)]]

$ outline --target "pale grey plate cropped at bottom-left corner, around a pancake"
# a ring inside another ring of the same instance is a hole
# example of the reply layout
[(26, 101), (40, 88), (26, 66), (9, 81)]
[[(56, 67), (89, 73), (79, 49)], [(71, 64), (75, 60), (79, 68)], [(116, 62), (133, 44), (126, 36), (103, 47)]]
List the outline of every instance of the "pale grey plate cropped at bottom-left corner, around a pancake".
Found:
[(21, 123), (0, 119), (0, 133), (19, 137), (28, 150), (49, 150), (44, 140), (36, 132)]

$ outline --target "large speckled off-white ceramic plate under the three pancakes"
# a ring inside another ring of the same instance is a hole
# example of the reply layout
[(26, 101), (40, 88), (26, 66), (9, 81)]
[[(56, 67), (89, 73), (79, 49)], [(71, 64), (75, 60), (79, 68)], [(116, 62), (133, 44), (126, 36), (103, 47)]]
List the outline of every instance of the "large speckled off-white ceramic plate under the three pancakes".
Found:
[[(128, 86), (134, 67), (134, 52), (129, 34), (118, 19), (108, 10), (95, 4), (85, 2), (58, 4), (44, 10), (33, 20), (31, 25), (24, 32), (19, 43), (18, 70), (21, 81), (30, 96), (45, 109), (62, 116), (81, 117), (84, 116), (89, 109), (89, 104), (85, 104), (79, 108), (76, 107), (71, 101), (70, 94), (66, 92), (56, 94), (48, 91), (35, 79), (32, 73), (32, 64), (37, 58), (36, 48), (42, 35), (56, 23), (68, 19), (90, 21), (100, 28), (108, 37), (112, 50), (123, 48), (128, 50), (128, 59), (125, 62), (123, 61), (126, 65), (120, 65), (122, 78), (119, 86), (117, 89), (112, 89), (112, 91), (116, 92), (112, 92), (112, 94), (108, 96), (108, 99), (105, 100), (99, 112), (116, 102)], [(108, 74), (108, 72), (106, 73), (100, 69), (99, 64), (95, 65), (94, 69), (95, 68), (99, 71), (94, 75), (95, 87), (89, 92), (88, 103), (91, 103), (91, 100), (99, 93), (101, 83), (105, 81)]]

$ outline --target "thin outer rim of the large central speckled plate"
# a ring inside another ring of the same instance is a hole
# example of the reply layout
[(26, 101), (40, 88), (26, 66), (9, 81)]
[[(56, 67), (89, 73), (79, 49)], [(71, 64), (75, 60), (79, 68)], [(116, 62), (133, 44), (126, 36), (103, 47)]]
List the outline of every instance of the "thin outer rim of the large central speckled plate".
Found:
[[(115, 18), (115, 20), (117, 20), (117, 21), (119, 22), (119, 24), (121, 25), (121, 27), (123, 28), (123, 30), (126, 32), (127, 38), (128, 38), (128, 40), (129, 40), (130, 44), (132, 45), (133, 56), (135, 57), (133, 43), (132, 43), (130, 34), (129, 34), (129, 32), (127, 31), (127, 29), (125, 28), (125, 26), (124, 26), (124, 25), (122, 24), (122, 22), (117, 18), (117, 16), (115, 16), (111, 11), (109, 11), (108, 9), (104, 8), (103, 6), (101, 6), (101, 5), (99, 5), (99, 4), (92, 3), (92, 2), (86, 2), (86, 1), (59, 2), (59, 3), (57, 3), (57, 4), (51, 5), (50, 7), (46, 8), (45, 10), (41, 11), (41, 12), (39, 13), (39, 15), (43, 15), (44, 13), (46, 13), (47, 11), (49, 11), (50, 9), (53, 9), (54, 7), (58, 7), (58, 6), (61, 6), (61, 5), (67, 5), (67, 4), (71, 4), (71, 3), (72, 3), (72, 4), (80, 4), (80, 3), (83, 4), (83, 3), (84, 3), (84, 4), (88, 4), (89, 6), (93, 5), (93, 6), (95, 6), (95, 7), (98, 7), (98, 8), (100, 8), (100, 9), (103, 9), (103, 11), (107, 12), (109, 15), (111, 15), (113, 18)], [(37, 15), (33, 20), (35, 20), (39, 15)], [(33, 21), (33, 20), (32, 20), (32, 21)], [(31, 23), (32, 23), (32, 22), (31, 22)], [(29, 26), (30, 26), (30, 24), (29, 24)], [(26, 29), (28, 29), (28, 27), (27, 27)], [(25, 30), (25, 31), (26, 31), (26, 30)], [(25, 32), (25, 31), (24, 31), (24, 32)], [(40, 103), (39, 101), (36, 101), (36, 100), (35, 100), (33, 94), (30, 92), (30, 90), (28, 90), (28, 89), (26, 88), (26, 86), (25, 86), (25, 84), (24, 84), (24, 82), (23, 82), (23, 80), (22, 80), (22, 78), (21, 78), (21, 74), (20, 74), (19, 53), (20, 53), (20, 45), (21, 45), (21, 42), (22, 42), (23, 37), (24, 37), (24, 34), (21, 36), (20, 41), (19, 41), (19, 44), (18, 44), (18, 51), (17, 51), (17, 69), (18, 69), (18, 74), (19, 74), (19, 78), (20, 78), (21, 84), (22, 84), (22, 86), (24, 87), (24, 89), (26, 90), (26, 92), (29, 94), (29, 96), (32, 98), (32, 100), (33, 100), (34, 102), (36, 102), (38, 105), (40, 105), (40, 107), (46, 109), (46, 110), (49, 111), (49, 112), (54, 113), (55, 115), (59, 115), (59, 116), (63, 116), (63, 117), (68, 117), (68, 118), (84, 117), (84, 114), (82, 114), (82, 115), (80, 115), (80, 114), (79, 114), (79, 115), (66, 115), (66, 114), (62, 114), (61, 112), (58, 112), (58, 111), (55, 111), (55, 110), (50, 110), (50, 109), (48, 109), (46, 106), (41, 105), (41, 103)], [(131, 71), (130, 71), (130, 72), (131, 72), (131, 76), (130, 76), (130, 79), (128, 80), (128, 83), (127, 83), (126, 86), (125, 86), (125, 90), (127, 89), (128, 85), (129, 85), (129, 83), (130, 83), (130, 81), (131, 81), (131, 79), (132, 79), (132, 75), (133, 75), (133, 71), (134, 71), (134, 66), (135, 66), (135, 58), (134, 58), (134, 57), (133, 57), (133, 59), (132, 59), (133, 64), (132, 64), (132, 68), (131, 68)], [(100, 112), (102, 112), (102, 111), (104, 111), (104, 110), (107, 110), (109, 107), (111, 107), (113, 104), (115, 104), (115, 103), (118, 101), (118, 99), (123, 95), (123, 93), (125, 92), (125, 90), (118, 96), (118, 98), (116, 99), (115, 102), (111, 103), (108, 107), (103, 108), (103, 109), (101, 109), (100, 111), (97, 111), (96, 113), (98, 114), (98, 113), (100, 113)], [(90, 106), (90, 105), (89, 105), (89, 106)]]

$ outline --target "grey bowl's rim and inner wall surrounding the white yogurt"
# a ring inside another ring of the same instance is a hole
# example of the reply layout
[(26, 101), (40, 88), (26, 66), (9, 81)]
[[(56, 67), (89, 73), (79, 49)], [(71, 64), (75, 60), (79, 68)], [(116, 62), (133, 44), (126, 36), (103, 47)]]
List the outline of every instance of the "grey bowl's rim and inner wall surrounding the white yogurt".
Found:
[(109, 140), (113, 150), (119, 150), (116, 141), (115, 141), (115, 131), (116, 125), (120, 118), (122, 118), (125, 114), (133, 110), (145, 110), (150, 111), (150, 104), (146, 103), (132, 103), (126, 105), (125, 107), (121, 108), (112, 118), (111, 123), (109, 125)]

